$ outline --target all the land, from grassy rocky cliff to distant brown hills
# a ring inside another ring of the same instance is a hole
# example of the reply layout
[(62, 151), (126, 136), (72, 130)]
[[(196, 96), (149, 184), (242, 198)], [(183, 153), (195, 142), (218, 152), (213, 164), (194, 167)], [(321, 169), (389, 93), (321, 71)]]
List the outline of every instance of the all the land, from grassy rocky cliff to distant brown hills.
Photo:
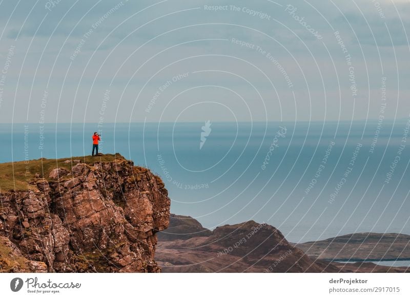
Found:
[(362, 233), (292, 244), (254, 221), (211, 231), (170, 216), (162, 180), (119, 154), (0, 164), (0, 272), (408, 272), (332, 261), (406, 259), (409, 242)]

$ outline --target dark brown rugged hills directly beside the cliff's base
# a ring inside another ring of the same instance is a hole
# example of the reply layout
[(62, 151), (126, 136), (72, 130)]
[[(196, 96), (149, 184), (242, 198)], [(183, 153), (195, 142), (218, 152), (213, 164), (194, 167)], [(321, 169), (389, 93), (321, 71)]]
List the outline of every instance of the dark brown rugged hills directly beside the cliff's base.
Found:
[(373, 263), (342, 264), (306, 255), (268, 224), (248, 221), (210, 231), (171, 214), (158, 234), (155, 259), (162, 272), (405, 272)]

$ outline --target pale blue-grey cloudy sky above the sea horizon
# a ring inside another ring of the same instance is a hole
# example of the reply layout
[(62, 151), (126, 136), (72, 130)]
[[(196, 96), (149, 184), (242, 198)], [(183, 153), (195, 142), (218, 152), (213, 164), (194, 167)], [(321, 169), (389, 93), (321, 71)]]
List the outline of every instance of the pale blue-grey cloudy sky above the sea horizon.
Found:
[(0, 0), (0, 24), (3, 123), (410, 114), (408, 0)]

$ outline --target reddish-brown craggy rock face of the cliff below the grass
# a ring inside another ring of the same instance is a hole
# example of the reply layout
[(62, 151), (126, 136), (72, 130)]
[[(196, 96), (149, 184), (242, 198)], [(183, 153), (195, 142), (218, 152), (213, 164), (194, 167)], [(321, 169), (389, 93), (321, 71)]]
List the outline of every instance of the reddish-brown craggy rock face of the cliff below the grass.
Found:
[(169, 225), (170, 199), (159, 177), (124, 158), (44, 176), (1, 193), (0, 271), (160, 271), (155, 233)]

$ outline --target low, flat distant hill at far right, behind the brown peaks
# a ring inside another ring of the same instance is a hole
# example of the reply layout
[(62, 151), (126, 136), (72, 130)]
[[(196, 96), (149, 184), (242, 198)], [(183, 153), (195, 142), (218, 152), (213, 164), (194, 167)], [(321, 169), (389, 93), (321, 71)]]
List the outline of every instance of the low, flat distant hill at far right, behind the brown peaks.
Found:
[(397, 233), (354, 233), (295, 246), (325, 260), (410, 259), (410, 236)]

